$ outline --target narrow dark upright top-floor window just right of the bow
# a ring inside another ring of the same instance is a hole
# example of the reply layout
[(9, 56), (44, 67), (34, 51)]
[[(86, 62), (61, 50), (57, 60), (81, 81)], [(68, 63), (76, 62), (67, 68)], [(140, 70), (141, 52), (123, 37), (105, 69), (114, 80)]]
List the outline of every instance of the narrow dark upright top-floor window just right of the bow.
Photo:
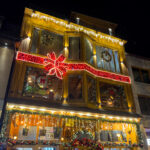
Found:
[(80, 37), (69, 37), (69, 59), (79, 60), (80, 58)]

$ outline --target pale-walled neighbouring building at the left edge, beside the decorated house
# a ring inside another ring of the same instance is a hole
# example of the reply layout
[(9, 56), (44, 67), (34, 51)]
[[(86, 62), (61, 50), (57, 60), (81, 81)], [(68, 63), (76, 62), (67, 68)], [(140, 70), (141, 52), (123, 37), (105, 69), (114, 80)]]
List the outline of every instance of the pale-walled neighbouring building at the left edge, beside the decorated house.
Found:
[[(16, 38), (10, 33), (10, 24), (0, 16), (0, 118), (4, 107), (6, 89), (15, 51)], [(1, 126), (1, 121), (0, 121)]]

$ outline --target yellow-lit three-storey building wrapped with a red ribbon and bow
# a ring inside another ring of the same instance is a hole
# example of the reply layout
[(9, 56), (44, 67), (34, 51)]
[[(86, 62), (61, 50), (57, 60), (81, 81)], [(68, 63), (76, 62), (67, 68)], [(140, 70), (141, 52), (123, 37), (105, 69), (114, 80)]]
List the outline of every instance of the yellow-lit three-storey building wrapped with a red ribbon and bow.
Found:
[(75, 24), (25, 9), (1, 131), (8, 149), (143, 148), (126, 41), (78, 15)]

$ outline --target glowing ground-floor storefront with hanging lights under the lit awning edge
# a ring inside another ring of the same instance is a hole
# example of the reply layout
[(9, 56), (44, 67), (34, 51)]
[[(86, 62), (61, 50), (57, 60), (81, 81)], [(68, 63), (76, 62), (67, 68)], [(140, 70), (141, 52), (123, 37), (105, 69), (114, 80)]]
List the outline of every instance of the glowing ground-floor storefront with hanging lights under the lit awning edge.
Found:
[(8, 149), (130, 150), (142, 146), (138, 118), (8, 105)]

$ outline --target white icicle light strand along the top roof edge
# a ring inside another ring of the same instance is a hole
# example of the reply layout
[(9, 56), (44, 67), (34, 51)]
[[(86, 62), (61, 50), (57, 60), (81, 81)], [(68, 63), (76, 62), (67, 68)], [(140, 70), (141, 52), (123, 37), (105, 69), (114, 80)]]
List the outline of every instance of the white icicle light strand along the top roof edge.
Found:
[(84, 29), (83, 27), (79, 27), (79, 26), (76, 26), (73, 24), (68, 24), (68, 23), (65, 23), (64, 21), (58, 21), (52, 17), (47, 17), (47, 16), (43, 16), (40, 14), (36, 14), (36, 13), (32, 13), (31, 17), (43, 19), (45, 21), (51, 21), (55, 24), (59, 24), (59, 25), (65, 27), (65, 28), (76, 30), (78, 32), (84, 32), (85, 34), (94, 36), (96, 38), (105, 39), (105, 40), (111, 41), (112, 43), (119, 43), (120, 46), (123, 46), (123, 41), (120, 41), (119, 39), (115, 39), (110, 36), (102, 35), (100, 33), (96, 33), (95, 31), (88, 31), (88, 30)]

